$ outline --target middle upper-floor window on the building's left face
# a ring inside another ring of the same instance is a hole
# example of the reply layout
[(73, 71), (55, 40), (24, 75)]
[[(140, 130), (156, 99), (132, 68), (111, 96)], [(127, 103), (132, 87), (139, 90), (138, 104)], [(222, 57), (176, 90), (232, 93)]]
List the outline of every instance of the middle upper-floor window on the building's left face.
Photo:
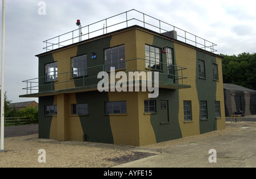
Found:
[(71, 59), (72, 77), (87, 75), (87, 55), (73, 57)]

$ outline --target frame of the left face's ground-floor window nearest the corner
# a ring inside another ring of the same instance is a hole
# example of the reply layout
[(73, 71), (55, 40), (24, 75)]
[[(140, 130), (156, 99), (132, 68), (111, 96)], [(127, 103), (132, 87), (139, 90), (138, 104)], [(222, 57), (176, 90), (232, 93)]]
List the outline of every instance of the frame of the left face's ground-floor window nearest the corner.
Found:
[[(125, 110), (123, 109), (122, 105), (125, 102)], [(119, 105), (118, 105), (119, 103)], [(122, 104), (123, 103), (123, 104)], [(111, 106), (108, 106), (111, 105)], [(117, 105), (117, 106), (115, 106)], [(119, 113), (115, 113), (115, 107), (119, 108)], [(111, 112), (109, 113), (109, 108), (111, 109)], [(126, 101), (108, 101), (105, 102), (105, 114), (127, 114), (127, 102)]]

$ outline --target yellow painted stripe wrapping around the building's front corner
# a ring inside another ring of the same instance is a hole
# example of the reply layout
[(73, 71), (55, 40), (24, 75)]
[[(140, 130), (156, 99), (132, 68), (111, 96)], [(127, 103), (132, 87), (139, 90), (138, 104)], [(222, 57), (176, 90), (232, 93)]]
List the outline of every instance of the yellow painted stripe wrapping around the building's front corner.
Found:
[[(154, 36), (140, 30), (113, 35), (110, 46), (125, 42), (126, 60), (145, 58), (145, 43), (152, 44)], [(145, 69), (144, 60), (127, 62), (127, 70)], [(128, 74), (127, 77), (129, 78)], [(127, 115), (110, 115), (115, 144), (146, 145), (156, 143), (150, 115), (144, 115), (144, 99), (148, 92), (109, 92), (109, 101), (126, 101)]]

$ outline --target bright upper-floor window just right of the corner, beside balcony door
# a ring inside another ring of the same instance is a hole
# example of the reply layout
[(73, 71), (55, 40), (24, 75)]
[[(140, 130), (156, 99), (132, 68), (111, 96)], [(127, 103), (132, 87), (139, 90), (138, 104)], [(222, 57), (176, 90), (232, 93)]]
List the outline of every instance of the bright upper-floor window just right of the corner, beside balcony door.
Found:
[(160, 48), (145, 45), (146, 68), (161, 70)]

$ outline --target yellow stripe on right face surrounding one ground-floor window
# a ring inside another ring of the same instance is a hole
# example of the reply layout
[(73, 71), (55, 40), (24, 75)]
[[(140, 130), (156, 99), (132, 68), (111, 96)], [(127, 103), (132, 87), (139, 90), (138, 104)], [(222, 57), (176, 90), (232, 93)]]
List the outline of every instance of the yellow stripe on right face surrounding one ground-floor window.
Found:
[[(196, 90), (196, 50), (177, 43), (174, 43), (174, 45), (176, 65), (187, 67), (183, 71), (183, 76), (188, 78), (183, 80), (183, 84), (191, 85), (191, 88), (179, 89), (179, 124), (181, 134), (183, 137), (197, 135), (200, 134), (200, 108)], [(181, 76), (181, 71), (179, 71), (179, 76)], [(183, 101), (191, 101), (192, 122), (184, 122)]]

